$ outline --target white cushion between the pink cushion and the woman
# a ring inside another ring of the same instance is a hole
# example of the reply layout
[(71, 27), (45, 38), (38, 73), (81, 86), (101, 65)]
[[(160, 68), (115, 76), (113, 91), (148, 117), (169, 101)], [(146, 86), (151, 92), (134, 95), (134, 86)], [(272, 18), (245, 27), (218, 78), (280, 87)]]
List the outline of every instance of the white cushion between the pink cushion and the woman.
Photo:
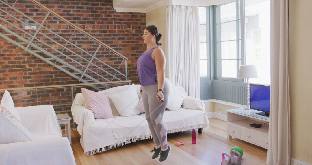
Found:
[(119, 93), (110, 95), (110, 99), (121, 116), (132, 116), (141, 113), (136, 109), (139, 104), (139, 97), (134, 84)]

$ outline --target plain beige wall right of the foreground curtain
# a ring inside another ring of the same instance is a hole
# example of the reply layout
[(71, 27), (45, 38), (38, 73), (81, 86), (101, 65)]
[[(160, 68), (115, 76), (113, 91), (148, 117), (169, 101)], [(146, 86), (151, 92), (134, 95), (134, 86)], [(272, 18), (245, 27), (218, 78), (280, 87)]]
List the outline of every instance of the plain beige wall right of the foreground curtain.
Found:
[(291, 157), (312, 164), (312, 1), (290, 0)]

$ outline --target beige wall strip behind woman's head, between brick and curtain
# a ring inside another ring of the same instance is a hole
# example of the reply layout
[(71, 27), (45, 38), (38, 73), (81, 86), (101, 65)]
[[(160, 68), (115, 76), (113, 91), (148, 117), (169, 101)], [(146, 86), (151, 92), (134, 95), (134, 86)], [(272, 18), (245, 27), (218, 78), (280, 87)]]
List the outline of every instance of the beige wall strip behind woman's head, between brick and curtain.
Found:
[(150, 12), (146, 13), (146, 26), (155, 25), (158, 27), (159, 32), (163, 35), (162, 39), (160, 40), (161, 45), (160, 47), (163, 49), (163, 53), (166, 55), (165, 50), (165, 42), (166, 42), (166, 7), (162, 6), (156, 8)]

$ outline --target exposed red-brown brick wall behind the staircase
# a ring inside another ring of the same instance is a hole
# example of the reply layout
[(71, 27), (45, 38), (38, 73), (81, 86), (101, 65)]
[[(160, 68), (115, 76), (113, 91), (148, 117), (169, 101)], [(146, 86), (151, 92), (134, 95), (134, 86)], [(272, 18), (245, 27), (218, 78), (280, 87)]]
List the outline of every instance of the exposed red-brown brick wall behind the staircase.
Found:
[[(13, 5), (15, 0), (7, 0), (8, 4)], [(124, 13), (116, 12), (113, 9), (112, 0), (45, 0), (39, 1), (44, 4), (46, 7), (60, 14), (62, 17), (66, 18), (70, 22), (74, 23), (76, 26), (82, 28), (86, 32), (98, 38), (100, 41), (104, 42), (108, 46), (115, 49), (117, 52), (121, 53), (125, 57), (129, 58), (127, 61), (127, 73), (128, 80), (132, 80), (132, 83), (139, 83), (139, 78), (137, 75), (136, 61), (139, 58), (140, 54), (146, 49), (144, 42), (142, 40), (142, 33), (146, 26), (146, 15), (145, 13)], [(46, 12), (34, 5), (31, 1), (18, 0), (16, 8), (27, 13), (27, 16), (37, 20), (41, 23), (41, 20), (46, 15)], [(9, 8), (6, 8), (5, 5), (1, 5), (6, 11), (9, 11)], [(0, 12), (0, 17), (6, 17), (4, 12)], [(23, 19), (25, 22), (30, 25), (35, 25), (34, 22), (22, 17), (20, 14), (14, 12), (16, 17)], [(14, 22), (11, 17), (7, 17), (7, 20)], [(2, 22), (2, 20), (0, 20)], [(23, 27), (22, 23), (14, 22), (18, 27)], [(21, 31), (4, 22), (2, 25), (9, 27), (12, 30), (15, 30), (18, 34), (22, 35), (24, 38), (30, 40), (30, 36), (22, 34)], [(53, 32), (61, 35), (62, 37), (69, 39), (71, 42), (75, 43), (81, 47), (86, 52), (93, 55), (95, 50), (98, 47), (98, 44), (94, 41), (91, 41), (88, 37), (82, 36), (77, 31), (72, 35), (74, 29), (67, 26), (64, 22), (58, 21), (56, 17), (48, 17), (47, 21), (44, 23), (44, 26), (49, 27)], [(37, 25), (37, 27), (39, 27)], [(33, 30), (26, 30), (27, 32), (34, 34)], [(41, 28), (41, 32), (53, 39), (59, 41), (62, 45), (66, 45), (66, 42), (62, 42), (57, 39), (55, 35), (47, 30)], [(58, 51), (67, 54), (69, 57), (79, 61), (82, 64), (87, 64), (83, 60), (77, 58), (73, 53), (70, 53), (60, 45), (55, 44), (51, 41), (46, 41), (47, 38), (41, 34), (37, 34), (38, 38), (44, 40), (48, 45), (57, 48)], [(59, 56), (60, 53), (53, 51), (51, 48), (34, 40), (38, 46), (44, 48), (48, 52), (52, 53), (55, 56)], [(91, 59), (90, 56), (86, 55), (79, 49), (67, 45), (67, 48), (74, 50), (75, 53), (78, 53), (88, 60)], [(118, 58), (116, 55), (101, 47), (99, 52), (96, 55), (97, 58), (111, 65), (113, 68), (118, 68), (119, 64), (122, 62), (121, 58)], [(60, 84), (74, 84), (79, 83), (78, 80), (72, 78), (66, 73), (53, 68), (51, 65), (42, 61), (41, 59), (24, 52), (21, 48), (15, 46), (14, 44), (0, 38), (0, 88), (17, 88), (17, 87), (33, 87), (33, 86), (46, 86), (46, 85), (60, 85)], [(73, 63), (72, 60), (60, 56), (61, 59), (67, 61), (68, 63)], [(111, 74), (115, 74), (115, 71), (107, 68), (103, 63), (95, 62), (100, 68), (107, 70)], [(77, 65), (77, 64), (72, 64)], [(77, 65), (78, 68), (78, 65)], [(112, 77), (104, 73), (98, 68), (90, 67), (96, 73), (99, 73), (105, 78), (111, 79)], [(82, 71), (83, 68), (80, 68)], [(123, 65), (119, 68), (119, 71), (125, 73), (125, 68)], [(100, 78), (95, 73), (87, 71), (88, 74), (99, 79), (102, 82), (105, 82), (104, 79)], [(116, 77), (125, 80), (123, 76), (116, 74)], [(116, 81), (116, 79), (114, 79)], [(75, 89), (75, 93), (80, 93), (80, 88)], [(41, 92), (41, 99), (38, 104), (49, 104), (52, 102), (62, 103), (63, 99), (67, 100), (66, 94), (71, 92), (69, 89), (60, 90), (46, 90)], [(1, 97), (3, 92), (1, 93)], [(12, 92), (13, 93), (13, 92)], [(28, 106), (28, 105), (37, 105), (37, 96), (34, 97), (34, 91), (32, 92), (16, 92), (14, 95), (14, 102), (16, 106)], [(71, 100), (71, 98), (70, 98)], [(61, 108), (60, 110), (70, 110), (69, 107)]]

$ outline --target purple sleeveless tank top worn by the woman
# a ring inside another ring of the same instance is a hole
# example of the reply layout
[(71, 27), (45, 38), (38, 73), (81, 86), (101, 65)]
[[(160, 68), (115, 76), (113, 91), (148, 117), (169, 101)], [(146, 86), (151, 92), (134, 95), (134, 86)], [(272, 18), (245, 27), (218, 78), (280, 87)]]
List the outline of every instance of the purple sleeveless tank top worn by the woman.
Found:
[(153, 47), (148, 52), (144, 52), (138, 58), (138, 75), (140, 79), (140, 85), (142, 86), (157, 84), (156, 64), (152, 58), (152, 52), (157, 47)]

